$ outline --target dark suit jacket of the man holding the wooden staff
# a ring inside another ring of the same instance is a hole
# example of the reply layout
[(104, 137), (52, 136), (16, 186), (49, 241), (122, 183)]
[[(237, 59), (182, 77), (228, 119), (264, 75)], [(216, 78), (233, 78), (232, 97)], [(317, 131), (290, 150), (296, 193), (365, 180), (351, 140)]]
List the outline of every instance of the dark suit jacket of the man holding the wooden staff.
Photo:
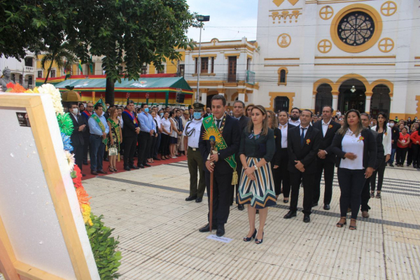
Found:
[[(203, 140), (203, 134), (205, 131), (206, 130), (204, 129), (204, 125), (202, 125), (198, 147), (200, 148), (200, 153), (202, 154), (204, 163), (207, 161), (211, 150), (210, 141)], [(226, 122), (225, 127), (223, 128), (222, 136), (223, 139), (225, 139), (228, 148), (218, 151), (219, 157), (218, 162), (215, 162), (215, 174), (228, 174), (232, 172), (232, 167), (230, 167), (228, 162), (225, 161), (225, 158), (230, 157), (230, 155), (239, 153), (239, 146), (241, 145), (241, 131), (239, 130), (239, 122), (237, 119), (226, 115)], [(206, 165), (204, 165), (204, 171), (209, 172)]]

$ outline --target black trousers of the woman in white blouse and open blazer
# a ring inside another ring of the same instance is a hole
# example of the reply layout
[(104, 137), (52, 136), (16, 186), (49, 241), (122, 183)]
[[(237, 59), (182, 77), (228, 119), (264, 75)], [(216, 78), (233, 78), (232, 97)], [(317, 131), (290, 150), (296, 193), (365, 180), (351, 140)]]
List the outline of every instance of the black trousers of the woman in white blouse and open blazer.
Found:
[(365, 169), (339, 168), (337, 171), (339, 189), (339, 210), (342, 217), (347, 216), (347, 208), (350, 205), (351, 218), (357, 219), (361, 204), (363, 186), (365, 186)]

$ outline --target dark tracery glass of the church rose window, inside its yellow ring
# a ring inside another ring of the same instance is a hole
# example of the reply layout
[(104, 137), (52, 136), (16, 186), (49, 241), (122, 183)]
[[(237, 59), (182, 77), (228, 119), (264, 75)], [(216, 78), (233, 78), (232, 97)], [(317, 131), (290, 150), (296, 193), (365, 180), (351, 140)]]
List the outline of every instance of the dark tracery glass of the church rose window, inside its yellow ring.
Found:
[(341, 41), (347, 45), (362, 45), (372, 38), (374, 22), (367, 13), (348, 13), (340, 20), (337, 32)]

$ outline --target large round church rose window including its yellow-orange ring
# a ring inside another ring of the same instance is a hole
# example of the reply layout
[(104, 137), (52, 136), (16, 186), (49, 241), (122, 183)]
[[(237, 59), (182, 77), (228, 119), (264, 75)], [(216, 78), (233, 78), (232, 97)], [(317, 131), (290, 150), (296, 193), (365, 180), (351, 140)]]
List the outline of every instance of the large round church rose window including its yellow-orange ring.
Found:
[(335, 45), (345, 52), (363, 52), (381, 36), (381, 16), (365, 4), (346, 6), (331, 22), (330, 34)]

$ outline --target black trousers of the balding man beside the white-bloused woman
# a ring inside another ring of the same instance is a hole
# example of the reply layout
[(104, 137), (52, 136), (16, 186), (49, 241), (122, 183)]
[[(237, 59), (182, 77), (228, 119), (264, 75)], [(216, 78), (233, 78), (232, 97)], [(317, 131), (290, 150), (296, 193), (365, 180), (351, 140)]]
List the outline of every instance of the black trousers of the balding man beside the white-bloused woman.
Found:
[(321, 179), (324, 174), (324, 204), (331, 203), (332, 197), (332, 181), (334, 180), (334, 162), (328, 160), (316, 159), (316, 174), (315, 174), (315, 186), (314, 186), (314, 197), (312, 202), (318, 203), (319, 197), (321, 196)]

